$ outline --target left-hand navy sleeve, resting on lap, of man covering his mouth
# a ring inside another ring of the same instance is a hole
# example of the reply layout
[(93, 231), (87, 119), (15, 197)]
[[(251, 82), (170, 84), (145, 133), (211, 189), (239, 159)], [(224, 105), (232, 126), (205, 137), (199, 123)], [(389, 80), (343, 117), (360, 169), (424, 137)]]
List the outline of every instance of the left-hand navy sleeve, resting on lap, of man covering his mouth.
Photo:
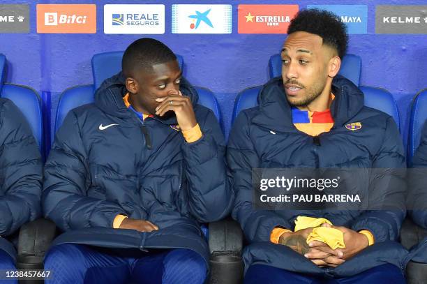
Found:
[(87, 196), (87, 151), (75, 112), (68, 112), (45, 165), (43, 211), (61, 230), (112, 227), (125, 211), (114, 202)]

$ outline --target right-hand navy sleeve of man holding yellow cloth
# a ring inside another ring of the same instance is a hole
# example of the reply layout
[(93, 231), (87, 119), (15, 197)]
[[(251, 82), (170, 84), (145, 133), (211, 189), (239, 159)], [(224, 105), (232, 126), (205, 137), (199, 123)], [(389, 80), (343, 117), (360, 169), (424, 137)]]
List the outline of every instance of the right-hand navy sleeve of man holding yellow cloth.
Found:
[(402, 140), (394, 119), (389, 117), (382, 146), (373, 157), (372, 172), (375, 177), (370, 177), (369, 187), (369, 193), (381, 193), (382, 204), (377, 204), (379, 209), (366, 210), (357, 216), (351, 225), (352, 230), (370, 231), (375, 243), (398, 240), (406, 214), (405, 167)]

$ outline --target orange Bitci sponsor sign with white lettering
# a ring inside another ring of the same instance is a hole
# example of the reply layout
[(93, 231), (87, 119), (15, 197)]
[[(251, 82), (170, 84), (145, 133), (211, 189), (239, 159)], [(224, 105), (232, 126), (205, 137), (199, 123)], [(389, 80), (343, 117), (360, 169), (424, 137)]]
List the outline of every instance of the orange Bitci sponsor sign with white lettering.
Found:
[(38, 4), (38, 33), (96, 33), (94, 4)]

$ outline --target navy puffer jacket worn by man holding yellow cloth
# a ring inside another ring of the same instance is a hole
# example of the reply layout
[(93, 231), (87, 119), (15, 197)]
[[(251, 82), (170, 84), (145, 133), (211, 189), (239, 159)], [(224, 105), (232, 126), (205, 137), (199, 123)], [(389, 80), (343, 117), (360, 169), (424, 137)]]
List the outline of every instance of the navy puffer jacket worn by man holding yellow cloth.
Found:
[[(234, 122), (227, 160), (234, 177), (236, 202), (232, 216), (239, 221), (250, 245), (244, 252), (246, 269), (262, 263), (290, 271), (329, 276), (350, 276), (384, 263), (403, 269), (407, 251), (396, 242), (405, 218), (405, 173), (393, 172), (389, 179), (372, 179), (366, 190), (381, 188), (396, 203), (387, 210), (267, 210), (253, 207), (253, 168), (405, 168), (405, 154), (394, 119), (364, 106), (364, 94), (349, 80), (333, 81), (331, 105), (334, 126), (318, 139), (297, 130), (292, 123), (283, 80), (264, 85), (259, 107), (242, 111)], [(359, 130), (345, 126), (359, 122)], [(388, 186), (393, 184), (393, 189)], [(360, 190), (360, 188), (359, 188)], [(392, 191), (393, 190), (393, 191)], [(362, 192), (363, 193), (363, 192)], [(369, 230), (375, 244), (335, 269), (315, 266), (286, 246), (272, 244), (274, 227), (293, 230), (297, 216), (323, 217), (334, 225)]]

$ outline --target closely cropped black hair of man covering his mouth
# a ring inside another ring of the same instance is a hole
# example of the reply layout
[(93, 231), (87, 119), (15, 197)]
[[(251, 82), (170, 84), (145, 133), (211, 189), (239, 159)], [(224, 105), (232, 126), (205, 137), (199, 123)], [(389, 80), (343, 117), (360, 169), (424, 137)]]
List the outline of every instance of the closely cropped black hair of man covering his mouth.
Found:
[(133, 77), (136, 70), (149, 70), (151, 66), (177, 60), (177, 56), (164, 43), (154, 38), (140, 38), (126, 48), (121, 59), (125, 77)]

